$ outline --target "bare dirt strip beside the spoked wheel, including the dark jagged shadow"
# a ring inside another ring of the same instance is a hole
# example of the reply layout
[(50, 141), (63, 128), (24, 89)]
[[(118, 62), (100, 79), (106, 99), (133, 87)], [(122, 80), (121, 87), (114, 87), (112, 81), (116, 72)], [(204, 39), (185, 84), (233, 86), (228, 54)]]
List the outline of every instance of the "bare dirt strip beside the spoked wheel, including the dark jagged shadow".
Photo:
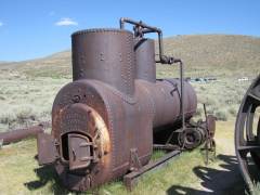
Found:
[(193, 168), (194, 173), (200, 179), (202, 188), (173, 185), (168, 194), (247, 194), (235, 156), (234, 125), (234, 120), (217, 122), (218, 167), (196, 166)]

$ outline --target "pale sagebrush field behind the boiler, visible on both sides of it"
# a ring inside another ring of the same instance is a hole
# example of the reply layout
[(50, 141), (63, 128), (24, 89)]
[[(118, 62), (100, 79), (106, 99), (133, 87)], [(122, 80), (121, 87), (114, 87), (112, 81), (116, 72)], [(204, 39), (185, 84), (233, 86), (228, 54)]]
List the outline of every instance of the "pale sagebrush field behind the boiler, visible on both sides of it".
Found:
[[(0, 131), (50, 120), (52, 103), (57, 91), (70, 78), (32, 77), (16, 70), (0, 72)], [(158, 72), (160, 75), (161, 72)], [(192, 83), (198, 95), (198, 117), (203, 103), (209, 114), (220, 120), (236, 116), (240, 100), (250, 81), (237, 82), (222, 78), (209, 83)]]

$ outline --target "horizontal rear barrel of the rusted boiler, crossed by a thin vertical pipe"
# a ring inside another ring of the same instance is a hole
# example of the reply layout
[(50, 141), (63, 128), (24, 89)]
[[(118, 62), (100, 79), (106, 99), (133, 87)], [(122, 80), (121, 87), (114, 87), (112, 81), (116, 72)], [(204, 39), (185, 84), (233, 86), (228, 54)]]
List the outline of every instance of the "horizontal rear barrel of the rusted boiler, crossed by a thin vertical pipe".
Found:
[[(156, 83), (139, 81), (136, 89), (143, 88), (147, 92), (144, 99), (151, 102), (154, 113), (154, 132), (164, 130), (161, 127), (181, 121), (181, 81), (180, 79), (158, 79)], [(197, 96), (193, 87), (184, 81), (184, 115), (190, 119), (197, 109)]]

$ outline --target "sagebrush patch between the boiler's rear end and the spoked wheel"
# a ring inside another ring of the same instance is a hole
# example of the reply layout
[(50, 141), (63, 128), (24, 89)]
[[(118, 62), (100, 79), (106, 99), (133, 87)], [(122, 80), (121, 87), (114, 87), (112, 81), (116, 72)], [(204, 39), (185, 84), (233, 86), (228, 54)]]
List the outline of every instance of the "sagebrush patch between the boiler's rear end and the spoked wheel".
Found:
[(219, 120), (234, 119), (250, 83), (251, 80), (238, 82), (235, 78), (192, 83), (198, 95), (198, 116), (204, 115), (202, 105), (206, 104), (208, 114), (213, 114)]

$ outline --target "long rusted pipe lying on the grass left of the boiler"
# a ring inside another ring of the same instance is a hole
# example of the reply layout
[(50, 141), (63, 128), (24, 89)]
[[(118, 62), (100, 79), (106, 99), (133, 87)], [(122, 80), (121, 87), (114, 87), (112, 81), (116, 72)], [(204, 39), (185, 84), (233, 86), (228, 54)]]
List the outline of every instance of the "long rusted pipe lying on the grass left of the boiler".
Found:
[(40, 123), (38, 126), (32, 126), (29, 128), (11, 130), (8, 132), (0, 133), (0, 141), (3, 145), (18, 142), (29, 136), (36, 136), (38, 133), (43, 132), (43, 128), (48, 126), (48, 122)]

